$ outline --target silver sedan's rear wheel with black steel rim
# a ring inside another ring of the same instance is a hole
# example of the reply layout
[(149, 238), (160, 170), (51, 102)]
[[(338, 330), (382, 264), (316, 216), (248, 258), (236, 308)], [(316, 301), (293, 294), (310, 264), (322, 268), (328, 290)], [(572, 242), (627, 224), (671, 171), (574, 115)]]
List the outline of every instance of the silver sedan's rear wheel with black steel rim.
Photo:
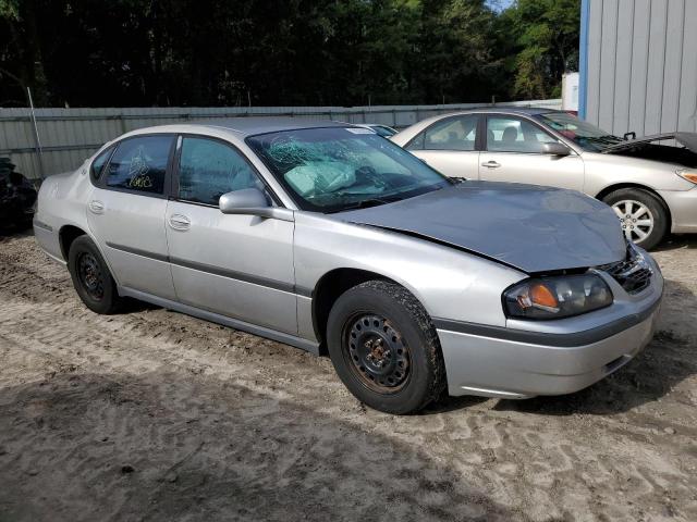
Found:
[(118, 312), (123, 299), (97, 246), (87, 236), (77, 237), (68, 253), (68, 270), (73, 286), (83, 302), (93, 312)]

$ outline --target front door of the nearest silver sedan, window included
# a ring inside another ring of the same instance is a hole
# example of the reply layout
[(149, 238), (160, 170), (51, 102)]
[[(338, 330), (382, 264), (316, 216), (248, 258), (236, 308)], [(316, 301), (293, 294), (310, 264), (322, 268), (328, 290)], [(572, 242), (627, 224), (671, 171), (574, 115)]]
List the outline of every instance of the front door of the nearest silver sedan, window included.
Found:
[(223, 214), (220, 196), (266, 187), (231, 144), (180, 137), (167, 239), (178, 300), (290, 334), (297, 333), (294, 222)]

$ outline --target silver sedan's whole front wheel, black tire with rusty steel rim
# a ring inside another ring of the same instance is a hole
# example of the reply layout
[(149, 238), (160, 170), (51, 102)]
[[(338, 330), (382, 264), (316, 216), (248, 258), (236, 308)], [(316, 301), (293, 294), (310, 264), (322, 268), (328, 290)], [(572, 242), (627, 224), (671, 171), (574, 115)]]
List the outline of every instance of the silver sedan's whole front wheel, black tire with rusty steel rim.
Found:
[(329, 313), (327, 340), (339, 377), (370, 408), (415, 413), (445, 388), (436, 327), (394, 283), (368, 281), (346, 290)]

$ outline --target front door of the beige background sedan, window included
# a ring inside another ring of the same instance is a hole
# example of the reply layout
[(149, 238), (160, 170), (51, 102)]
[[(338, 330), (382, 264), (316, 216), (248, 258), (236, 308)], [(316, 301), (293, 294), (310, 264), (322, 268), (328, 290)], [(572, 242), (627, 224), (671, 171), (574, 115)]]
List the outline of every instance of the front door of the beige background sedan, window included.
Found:
[(545, 153), (543, 144), (559, 140), (536, 123), (514, 115), (490, 114), (486, 129), (486, 149), (479, 157), (480, 179), (583, 190), (580, 157), (573, 151), (565, 157)]

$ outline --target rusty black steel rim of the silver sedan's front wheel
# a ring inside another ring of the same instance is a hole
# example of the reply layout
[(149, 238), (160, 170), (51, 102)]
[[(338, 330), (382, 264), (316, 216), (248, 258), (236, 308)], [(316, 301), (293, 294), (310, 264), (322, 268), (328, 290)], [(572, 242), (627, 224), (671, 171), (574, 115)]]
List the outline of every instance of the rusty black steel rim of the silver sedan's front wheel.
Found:
[(343, 352), (352, 373), (372, 391), (398, 393), (412, 375), (412, 355), (404, 338), (379, 314), (358, 313), (346, 321)]

